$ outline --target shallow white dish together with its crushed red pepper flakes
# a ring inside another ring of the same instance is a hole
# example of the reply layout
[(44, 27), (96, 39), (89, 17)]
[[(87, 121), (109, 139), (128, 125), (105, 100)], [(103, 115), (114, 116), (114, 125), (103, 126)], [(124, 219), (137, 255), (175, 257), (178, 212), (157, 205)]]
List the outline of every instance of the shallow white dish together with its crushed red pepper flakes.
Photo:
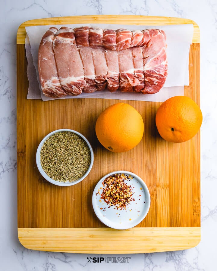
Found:
[(106, 226), (129, 229), (147, 215), (150, 194), (145, 182), (135, 173), (114, 171), (96, 184), (92, 204), (96, 216)]

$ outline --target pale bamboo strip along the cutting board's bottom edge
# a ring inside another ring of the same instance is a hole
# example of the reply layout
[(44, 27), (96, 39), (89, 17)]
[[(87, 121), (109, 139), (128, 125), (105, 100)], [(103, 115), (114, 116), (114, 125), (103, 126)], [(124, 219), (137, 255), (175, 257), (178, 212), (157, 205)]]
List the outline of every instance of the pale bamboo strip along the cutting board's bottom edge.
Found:
[(200, 242), (200, 227), (132, 228), (128, 230), (29, 228), (18, 229), (18, 237), (25, 248), (32, 250), (134, 254), (193, 248)]

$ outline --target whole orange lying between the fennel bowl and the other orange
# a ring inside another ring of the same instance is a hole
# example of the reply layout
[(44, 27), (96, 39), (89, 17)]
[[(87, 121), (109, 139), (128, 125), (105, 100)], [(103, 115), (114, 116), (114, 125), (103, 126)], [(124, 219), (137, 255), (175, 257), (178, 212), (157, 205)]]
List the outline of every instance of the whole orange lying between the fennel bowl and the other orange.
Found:
[(134, 148), (143, 137), (144, 123), (139, 112), (129, 104), (107, 107), (96, 121), (96, 136), (109, 151), (124, 152)]

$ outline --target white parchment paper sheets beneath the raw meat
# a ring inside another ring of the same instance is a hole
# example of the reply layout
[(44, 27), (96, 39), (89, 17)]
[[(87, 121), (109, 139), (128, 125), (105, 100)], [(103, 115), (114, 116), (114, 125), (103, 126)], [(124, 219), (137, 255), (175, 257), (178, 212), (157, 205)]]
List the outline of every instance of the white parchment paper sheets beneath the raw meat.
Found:
[[(123, 99), (123, 100), (142, 100), (142, 101), (165, 101), (166, 99), (184, 95), (184, 86), (189, 85), (189, 50), (193, 38), (193, 24), (169, 25), (169, 26), (138, 26), (138, 25), (106, 25), (106, 24), (70, 24), (70, 25), (49, 25), (49, 26), (27, 26), (26, 38), (26, 55), (28, 61), (27, 75), (29, 79), (29, 91), (27, 98), (39, 98), (39, 91), (43, 101), (53, 100), (54, 98), (46, 97), (40, 87), (38, 74), (38, 48), (42, 36), (49, 29), (55, 26), (68, 26), (75, 28), (78, 26), (99, 26), (101, 28), (126, 28), (129, 30), (143, 30), (147, 28), (158, 28), (165, 31), (167, 39), (167, 58), (168, 58), (168, 77), (164, 87), (156, 94), (126, 93), (126, 92), (109, 92), (107, 90), (96, 91), (93, 93), (82, 93), (78, 96), (65, 96), (65, 98), (106, 98), (106, 99)], [(35, 74), (36, 73), (36, 74)], [(37, 84), (36, 84), (37, 78)], [(37, 86), (37, 87), (36, 87)], [(36, 89), (37, 88), (37, 89)], [(36, 94), (37, 93), (37, 94)], [(37, 99), (36, 98), (36, 99)]]

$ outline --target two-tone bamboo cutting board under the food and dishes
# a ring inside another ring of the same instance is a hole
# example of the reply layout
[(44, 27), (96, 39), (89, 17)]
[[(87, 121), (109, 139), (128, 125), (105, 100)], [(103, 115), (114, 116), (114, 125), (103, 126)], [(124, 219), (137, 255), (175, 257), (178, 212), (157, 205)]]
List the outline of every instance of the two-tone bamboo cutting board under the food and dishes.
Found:
[[(192, 248), (200, 242), (200, 132), (184, 143), (163, 140), (155, 115), (161, 103), (124, 101), (140, 112), (145, 124), (142, 141), (126, 153), (103, 148), (95, 135), (98, 115), (122, 100), (27, 100), (25, 26), (115, 23), (167, 25), (193, 23), (190, 46), (190, 86), (184, 95), (200, 105), (200, 30), (191, 20), (150, 16), (74, 16), (27, 21), (17, 31), (17, 203), (18, 237), (26, 248), (76, 253), (145, 253)], [(36, 167), (36, 149), (49, 132), (68, 128), (90, 141), (94, 164), (82, 182), (52, 185)], [(127, 170), (149, 188), (148, 215), (136, 227), (115, 230), (102, 224), (92, 208), (92, 193), (105, 174)]]

